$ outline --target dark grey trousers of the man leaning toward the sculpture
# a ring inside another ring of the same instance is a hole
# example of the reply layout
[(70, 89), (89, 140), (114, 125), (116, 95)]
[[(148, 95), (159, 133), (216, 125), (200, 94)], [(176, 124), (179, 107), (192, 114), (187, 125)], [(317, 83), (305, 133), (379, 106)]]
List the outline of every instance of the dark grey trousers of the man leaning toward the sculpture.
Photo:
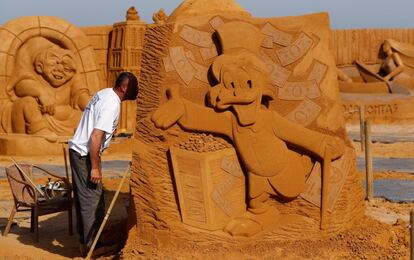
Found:
[(75, 162), (72, 168), (76, 168), (73, 172), (77, 173), (74, 174), (74, 180), (76, 178), (77, 201), (82, 223), (81, 236), (86, 248), (89, 249), (105, 214), (102, 183), (94, 184), (90, 181), (89, 156), (80, 156), (77, 152), (71, 151), (72, 160)]

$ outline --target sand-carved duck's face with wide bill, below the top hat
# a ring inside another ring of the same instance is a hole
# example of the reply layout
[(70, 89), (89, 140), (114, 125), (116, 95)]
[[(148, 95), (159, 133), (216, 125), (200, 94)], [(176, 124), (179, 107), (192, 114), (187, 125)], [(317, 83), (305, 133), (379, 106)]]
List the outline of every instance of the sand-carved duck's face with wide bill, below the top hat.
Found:
[(266, 65), (250, 52), (224, 54), (214, 61), (212, 72), (219, 83), (210, 90), (211, 105), (218, 110), (232, 109), (242, 126), (254, 124), (266, 95)]

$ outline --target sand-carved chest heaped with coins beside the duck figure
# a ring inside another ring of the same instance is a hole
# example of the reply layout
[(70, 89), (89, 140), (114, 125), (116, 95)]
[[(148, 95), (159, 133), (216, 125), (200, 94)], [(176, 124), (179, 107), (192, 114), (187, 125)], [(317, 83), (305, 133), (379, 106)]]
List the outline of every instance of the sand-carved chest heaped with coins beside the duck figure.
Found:
[(245, 212), (245, 178), (231, 144), (191, 134), (170, 153), (184, 223), (219, 230)]

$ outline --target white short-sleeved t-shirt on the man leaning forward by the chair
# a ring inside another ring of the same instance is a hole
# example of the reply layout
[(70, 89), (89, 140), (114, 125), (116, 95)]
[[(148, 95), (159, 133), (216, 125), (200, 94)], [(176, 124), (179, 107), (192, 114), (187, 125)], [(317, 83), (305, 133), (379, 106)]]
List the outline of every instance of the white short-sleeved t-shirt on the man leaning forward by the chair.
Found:
[(103, 152), (109, 146), (112, 135), (118, 125), (121, 100), (112, 88), (106, 88), (89, 101), (76, 129), (75, 135), (69, 140), (69, 148), (85, 156), (89, 153), (89, 138), (93, 129), (105, 132), (105, 141), (101, 146)]

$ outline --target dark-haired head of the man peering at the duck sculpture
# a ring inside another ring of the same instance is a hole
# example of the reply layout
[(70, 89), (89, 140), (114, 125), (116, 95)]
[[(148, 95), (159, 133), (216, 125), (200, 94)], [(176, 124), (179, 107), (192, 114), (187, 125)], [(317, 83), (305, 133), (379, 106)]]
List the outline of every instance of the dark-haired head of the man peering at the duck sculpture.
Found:
[(135, 100), (138, 95), (138, 79), (131, 72), (122, 72), (115, 81), (115, 91), (121, 100)]

